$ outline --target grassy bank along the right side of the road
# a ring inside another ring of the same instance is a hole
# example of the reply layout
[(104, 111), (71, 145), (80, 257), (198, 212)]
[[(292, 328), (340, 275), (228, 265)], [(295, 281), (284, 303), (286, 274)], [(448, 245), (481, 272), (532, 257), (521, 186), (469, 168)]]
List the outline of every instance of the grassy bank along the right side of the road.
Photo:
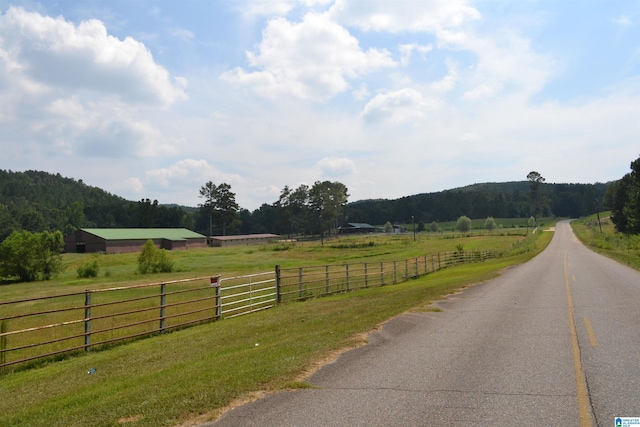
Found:
[(572, 221), (571, 227), (576, 236), (594, 251), (640, 270), (640, 235), (618, 233), (609, 219), (609, 213), (604, 212), (600, 216), (600, 224), (596, 215)]

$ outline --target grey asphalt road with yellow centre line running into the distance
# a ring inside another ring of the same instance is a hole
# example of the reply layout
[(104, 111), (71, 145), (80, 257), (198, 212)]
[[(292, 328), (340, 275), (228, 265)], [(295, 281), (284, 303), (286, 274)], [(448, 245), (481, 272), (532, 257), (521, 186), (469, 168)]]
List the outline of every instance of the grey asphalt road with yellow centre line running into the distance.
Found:
[(222, 426), (614, 426), (640, 417), (640, 273), (568, 222), (527, 264), (397, 317), (317, 371), (315, 389), (227, 412)]

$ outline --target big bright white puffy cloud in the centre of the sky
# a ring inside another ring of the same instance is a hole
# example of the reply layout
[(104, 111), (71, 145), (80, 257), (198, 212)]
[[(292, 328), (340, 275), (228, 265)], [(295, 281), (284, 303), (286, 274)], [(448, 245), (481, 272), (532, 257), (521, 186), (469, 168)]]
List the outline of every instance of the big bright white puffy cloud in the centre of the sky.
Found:
[(256, 71), (237, 67), (222, 79), (263, 96), (302, 99), (328, 99), (347, 90), (350, 79), (396, 65), (386, 49), (362, 50), (344, 27), (317, 13), (299, 23), (271, 20), (257, 52), (247, 58)]

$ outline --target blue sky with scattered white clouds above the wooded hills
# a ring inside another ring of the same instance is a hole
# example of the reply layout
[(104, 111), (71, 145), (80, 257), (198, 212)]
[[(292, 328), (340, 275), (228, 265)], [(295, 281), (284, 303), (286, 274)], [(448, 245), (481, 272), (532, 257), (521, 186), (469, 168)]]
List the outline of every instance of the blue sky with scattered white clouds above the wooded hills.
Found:
[(0, 0), (0, 169), (240, 207), (620, 179), (640, 0)]

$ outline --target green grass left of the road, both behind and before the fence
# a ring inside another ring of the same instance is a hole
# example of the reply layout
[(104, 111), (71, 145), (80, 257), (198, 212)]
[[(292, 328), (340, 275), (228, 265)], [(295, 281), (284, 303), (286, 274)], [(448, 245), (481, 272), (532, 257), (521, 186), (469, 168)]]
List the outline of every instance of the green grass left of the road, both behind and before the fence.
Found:
[[(256, 392), (306, 387), (304, 374), (336, 351), (364, 342), (366, 332), (407, 310), (495, 277), (539, 253), (552, 233), (522, 236), (366, 236), (259, 247), (172, 253), (181, 271), (172, 278), (238, 274), (283, 266), (352, 260), (406, 259), (438, 251), (501, 250), (508, 256), (466, 264), (397, 285), (281, 304), (248, 316), (212, 322), (52, 362), (0, 377), (0, 425), (175, 426), (214, 418), (235, 399)], [(359, 240), (360, 239), (360, 240)], [(364, 240), (362, 240), (364, 239)], [(358, 242), (374, 241), (372, 246)], [(280, 245), (280, 247), (278, 247)], [(287, 245), (287, 247), (284, 247)], [(0, 298), (61, 289), (157, 281), (134, 274), (135, 256), (99, 255), (101, 275), (74, 274), (92, 255), (66, 255), (55, 281), (0, 286)], [(344, 261), (343, 261), (344, 262)], [(73, 271), (71, 271), (73, 270)], [(104, 276), (104, 271), (110, 271)], [(164, 277), (164, 276), (163, 276)], [(90, 370), (95, 369), (91, 374)]]

